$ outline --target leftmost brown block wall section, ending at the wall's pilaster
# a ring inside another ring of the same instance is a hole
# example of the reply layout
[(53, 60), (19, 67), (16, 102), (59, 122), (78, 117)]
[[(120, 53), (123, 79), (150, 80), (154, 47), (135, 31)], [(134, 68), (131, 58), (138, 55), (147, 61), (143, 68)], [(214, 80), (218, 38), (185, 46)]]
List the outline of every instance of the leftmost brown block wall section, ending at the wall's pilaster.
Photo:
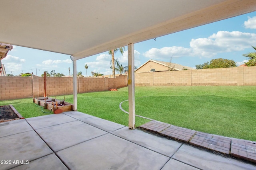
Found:
[(0, 100), (32, 98), (32, 77), (0, 76)]

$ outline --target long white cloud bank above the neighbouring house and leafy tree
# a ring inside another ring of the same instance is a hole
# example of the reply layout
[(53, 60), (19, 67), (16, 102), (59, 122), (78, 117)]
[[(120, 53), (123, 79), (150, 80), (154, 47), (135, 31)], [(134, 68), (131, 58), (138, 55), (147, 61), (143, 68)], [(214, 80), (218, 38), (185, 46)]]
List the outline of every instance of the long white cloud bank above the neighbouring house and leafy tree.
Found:
[(143, 55), (150, 59), (170, 59), (171, 57), (213, 57), (217, 53), (242, 51), (256, 44), (255, 33), (243, 33), (240, 31), (218, 31), (208, 38), (192, 39), (190, 48), (164, 47), (152, 48)]

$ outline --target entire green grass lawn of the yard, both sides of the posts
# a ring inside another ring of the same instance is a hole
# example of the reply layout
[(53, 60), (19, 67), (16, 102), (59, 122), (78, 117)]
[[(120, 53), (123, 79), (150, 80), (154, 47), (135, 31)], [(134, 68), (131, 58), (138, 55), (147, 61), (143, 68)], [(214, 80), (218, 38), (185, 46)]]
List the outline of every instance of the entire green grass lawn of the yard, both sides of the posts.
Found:
[[(205, 133), (256, 141), (256, 86), (148, 86), (135, 88), (136, 115)], [(57, 96), (63, 99), (64, 96)], [(128, 125), (119, 109), (128, 88), (78, 94), (78, 111)], [(73, 96), (66, 95), (73, 103)], [(22, 116), (46, 115), (32, 98), (0, 101), (12, 104)], [(128, 102), (122, 104), (128, 111)], [(47, 111), (47, 110), (46, 110)], [(136, 117), (136, 126), (148, 122)]]

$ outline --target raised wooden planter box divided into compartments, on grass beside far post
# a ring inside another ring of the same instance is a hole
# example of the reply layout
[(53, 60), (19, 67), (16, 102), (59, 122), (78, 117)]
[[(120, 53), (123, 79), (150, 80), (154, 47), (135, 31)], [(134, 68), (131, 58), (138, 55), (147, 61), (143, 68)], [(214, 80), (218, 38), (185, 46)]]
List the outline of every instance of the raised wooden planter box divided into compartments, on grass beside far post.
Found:
[(52, 110), (54, 114), (73, 111), (73, 104), (70, 104), (65, 101), (61, 101), (54, 98), (41, 97), (41, 98), (33, 98), (34, 103), (39, 106), (44, 107), (45, 109)]

